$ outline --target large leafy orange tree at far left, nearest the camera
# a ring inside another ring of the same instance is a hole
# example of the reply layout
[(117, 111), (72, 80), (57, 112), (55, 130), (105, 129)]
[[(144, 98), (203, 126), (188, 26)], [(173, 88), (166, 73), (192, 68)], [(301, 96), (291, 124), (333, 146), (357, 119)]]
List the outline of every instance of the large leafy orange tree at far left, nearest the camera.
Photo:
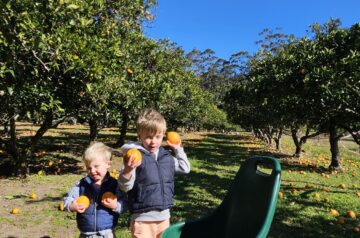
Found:
[[(147, 9), (154, 3), (1, 2), (1, 123), (9, 124), (10, 132), (2, 134), (0, 142), (13, 157), (15, 172), (28, 172), (20, 169), (27, 168), (39, 139), (67, 115), (92, 103), (95, 106), (82, 115), (86, 120), (100, 117), (108, 96), (92, 89), (101, 89), (109, 75), (124, 72), (122, 56), (136, 44), (128, 35), (141, 34)], [(90, 91), (98, 98), (88, 97)], [(30, 140), (18, 141), (17, 117), (41, 121)]]

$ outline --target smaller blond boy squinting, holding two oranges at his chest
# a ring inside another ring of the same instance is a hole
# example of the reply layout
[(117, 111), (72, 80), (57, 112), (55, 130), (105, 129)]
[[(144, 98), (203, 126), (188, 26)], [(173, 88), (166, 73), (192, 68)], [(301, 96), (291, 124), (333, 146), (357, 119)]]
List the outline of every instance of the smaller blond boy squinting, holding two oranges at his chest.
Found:
[[(115, 237), (114, 229), (119, 214), (125, 210), (127, 201), (118, 186), (117, 180), (110, 176), (112, 149), (101, 142), (90, 145), (83, 156), (88, 175), (71, 188), (64, 199), (65, 210), (77, 212), (76, 221), (81, 238)], [(102, 199), (105, 192), (112, 192), (116, 198)], [(76, 198), (85, 195), (90, 206), (78, 204)]]

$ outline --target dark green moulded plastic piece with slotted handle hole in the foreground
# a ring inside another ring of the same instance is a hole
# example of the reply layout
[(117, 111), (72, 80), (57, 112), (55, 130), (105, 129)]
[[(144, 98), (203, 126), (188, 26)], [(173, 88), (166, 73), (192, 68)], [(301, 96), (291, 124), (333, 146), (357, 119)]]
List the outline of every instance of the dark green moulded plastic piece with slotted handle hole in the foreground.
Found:
[(173, 224), (162, 238), (266, 237), (276, 209), (280, 174), (280, 163), (274, 157), (245, 160), (212, 214)]

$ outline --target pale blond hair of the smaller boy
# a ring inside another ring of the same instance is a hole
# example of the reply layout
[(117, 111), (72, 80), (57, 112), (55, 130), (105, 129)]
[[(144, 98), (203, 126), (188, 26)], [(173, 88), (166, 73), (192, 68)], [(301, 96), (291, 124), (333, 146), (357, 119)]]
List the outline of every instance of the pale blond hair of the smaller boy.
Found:
[(102, 142), (93, 142), (85, 150), (83, 161), (85, 164), (101, 157), (104, 161), (110, 161), (112, 156), (112, 149)]

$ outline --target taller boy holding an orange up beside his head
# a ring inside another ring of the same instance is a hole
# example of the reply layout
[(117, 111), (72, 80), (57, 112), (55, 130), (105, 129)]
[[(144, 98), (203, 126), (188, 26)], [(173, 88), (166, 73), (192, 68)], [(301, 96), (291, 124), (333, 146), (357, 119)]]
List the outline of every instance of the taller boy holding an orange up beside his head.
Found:
[(143, 110), (137, 120), (139, 143), (123, 145), (123, 153), (137, 148), (142, 160), (124, 162), (119, 184), (128, 194), (131, 212), (131, 234), (134, 238), (158, 238), (170, 226), (170, 208), (173, 207), (174, 175), (190, 172), (190, 163), (181, 147), (167, 141), (175, 152), (161, 146), (166, 132), (164, 117), (155, 110)]

